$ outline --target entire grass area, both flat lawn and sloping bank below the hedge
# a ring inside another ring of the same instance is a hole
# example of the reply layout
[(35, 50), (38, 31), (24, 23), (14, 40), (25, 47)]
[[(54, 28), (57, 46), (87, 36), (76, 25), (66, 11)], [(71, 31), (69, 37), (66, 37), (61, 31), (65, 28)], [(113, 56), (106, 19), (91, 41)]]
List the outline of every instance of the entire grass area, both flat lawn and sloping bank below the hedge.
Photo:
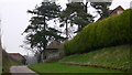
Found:
[(90, 63), (109, 67), (130, 68), (130, 45), (106, 47), (98, 51), (65, 56), (56, 63), (29, 66), (36, 73), (123, 73), (123, 71), (61, 64), (61, 62)]

